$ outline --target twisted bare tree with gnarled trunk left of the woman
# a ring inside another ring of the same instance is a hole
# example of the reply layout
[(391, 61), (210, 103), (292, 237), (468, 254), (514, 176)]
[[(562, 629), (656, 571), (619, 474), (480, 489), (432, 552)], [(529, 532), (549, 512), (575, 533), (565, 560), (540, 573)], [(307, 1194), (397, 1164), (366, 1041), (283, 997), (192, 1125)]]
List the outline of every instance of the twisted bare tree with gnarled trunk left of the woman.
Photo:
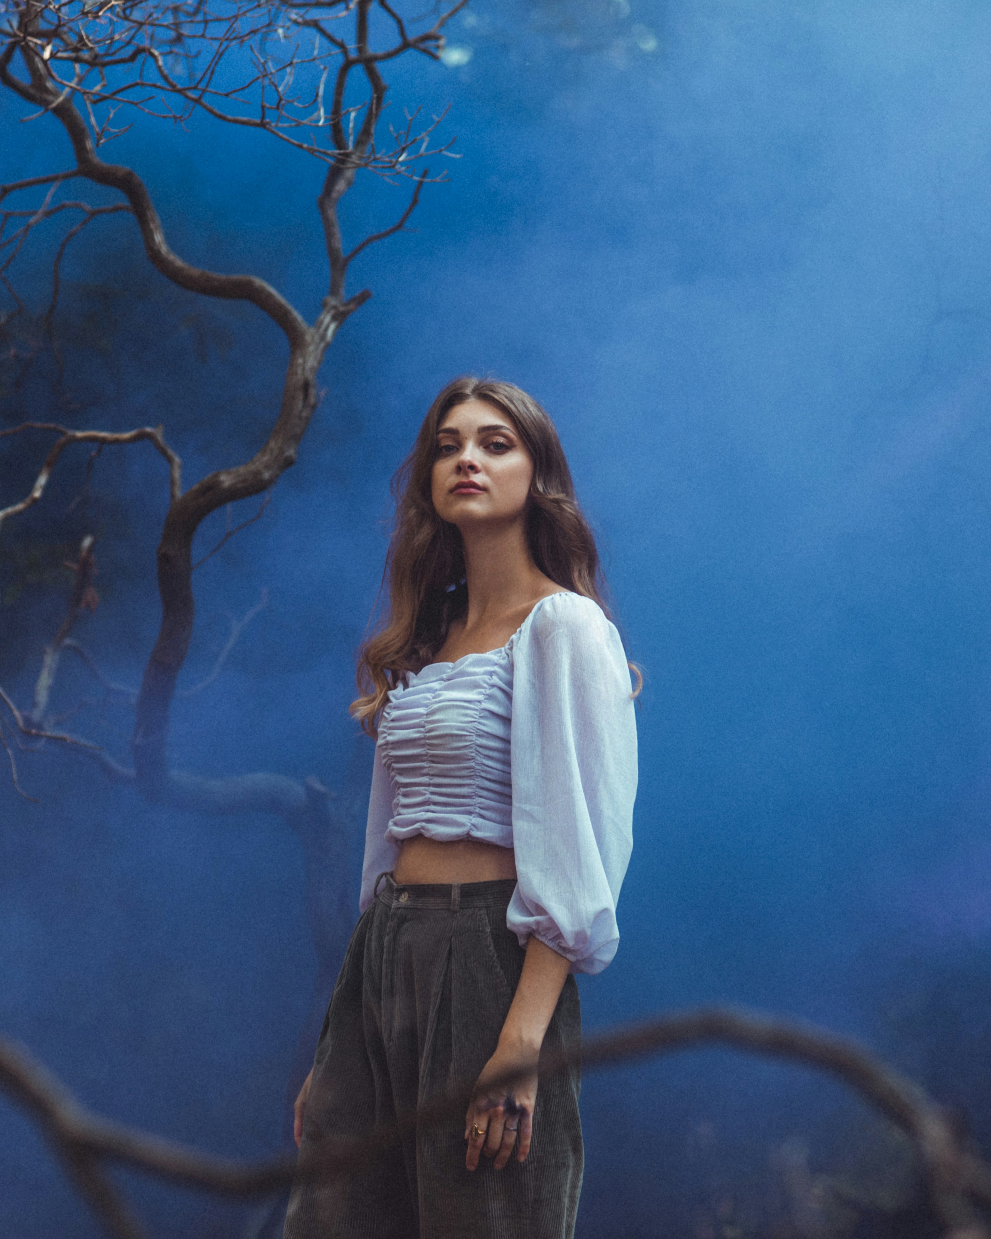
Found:
[[(110, 683), (99, 659), (72, 636), (95, 600), (93, 540), (87, 533), (77, 560), (68, 565), (74, 579), (72, 598), (43, 652), (31, 705), (20, 709), (0, 689), (0, 711), (5, 711), (0, 714), (0, 743), (19, 790), (17, 745), (55, 743), (94, 758), (110, 779), (130, 784), (151, 802), (207, 814), (280, 814), (306, 850), (307, 903), (321, 966), (311, 1022), (326, 1001), (328, 975), (336, 966), (337, 933), (328, 926), (339, 924), (344, 911), (339, 904), (347, 900), (332, 829), (341, 824), (341, 809), (315, 778), (300, 783), (266, 771), (204, 777), (172, 768), (170, 714), (193, 633), (192, 543), (212, 512), (251, 496), (268, 496), (294, 463), (320, 400), (318, 372), (326, 351), (342, 323), (372, 295), (367, 289), (348, 292), (352, 261), (369, 245), (400, 232), (424, 185), (443, 180), (436, 173), (436, 160), (450, 155), (450, 141), (435, 141), (441, 118), (422, 119), (414, 109), (405, 112), (401, 121), (388, 124), (395, 114), (385, 109), (383, 71), (408, 53), (439, 59), (445, 26), (466, 4), (450, 0), (426, 16), (422, 9), (430, 6), (416, 4), (411, 11), (420, 16), (406, 17), (401, 5), (388, 0), (0, 0), (0, 85), (27, 105), (26, 119), (32, 124), (61, 126), (74, 160), (0, 186), (0, 281), (9, 297), (0, 327), (7, 339), (7, 358), (17, 370), (15, 384), (24, 382), (41, 349), (55, 347), (52, 323), (67, 247), (94, 221), (111, 214), (133, 217), (147, 261), (166, 280), (202, 297), (250, 302), (289, 343), (281, 403), (271, 411), (261, 449), (250, 460), (233, 461), (188, 487), (182, 461), (167, 444), (162, 426), (118, 434), (26, 421), (2, 431), (10, 450), (16, 445), (27, 451), (38, 435), (55, 437), (28, 493), (0, 503), (0, 535), (5, 523), (43, 499), (62, 453), (78, 444), (90, 445), (94, 453), (123, 444), (151, 444), (166, 465), (168, 508), (157, 548), (161, 626), (140, 688), (131, 691)], [(176, 254), (139, 172), (107, 159), (108, 144), (135, 121), (164, 118), (182, 123), (197, 113), (256, 130), (259, 140), (264, 135), (284, 142), (322, 165), (317, 209), (327, 292), (313, 322), (256, 275), (204, 270)], [(427, 166), (431, 157), (432, 176)], [(338, 209), (359, 172), (405, 185), (408, 191), (394, 222), (369, 227), (348, 248)], [(100, 201), (85, 201), (78, 187), (87, 183), (100, 187)], [(103, 201), (108, 191), (113, 201)], [(64, 230), (53, 249), (46, 309), (32, 317), (30, 297), (17, 286), (19, 260), (42, 225)], [(26, 323), (32, 330), (22, 330)], [(61, 367), (62, 359), (56, 361)], [(235, 532), (228, 527), (223, 540)], [(219, 672), (248, 618), (234, 624), (206, 683)], [(52, 712), (53, 689), (67, 653), (82, 660), (108, 693), (133, 706), (129, 757), (115, 757), (84, 735), (63, 730), (59, 716)]]

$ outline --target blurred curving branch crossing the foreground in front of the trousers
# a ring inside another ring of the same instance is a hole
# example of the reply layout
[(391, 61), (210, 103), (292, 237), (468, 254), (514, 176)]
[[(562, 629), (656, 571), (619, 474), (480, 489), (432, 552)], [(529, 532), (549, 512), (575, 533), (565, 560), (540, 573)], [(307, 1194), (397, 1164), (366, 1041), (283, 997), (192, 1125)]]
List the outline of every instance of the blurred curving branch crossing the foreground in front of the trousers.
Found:
[[(965, 1149), (940, 1108), (912, 1080), (866, 1049), (819, 1028), (727, 1009), (702, 1009), (632, 1025), (588, 1038), (585, 1069), (631, 1058), (723, 1043), (785, 1058), (844, 1080), (912, 1141), (933, 1214), (943, 1239), (989, 1239), (991, 1166)], [(541, 1056), (543, 1078), (567, 1066), (564, 1054)], [(522, 1074), (522, 1073), (520, 1073)], [(496, 1084), (512, 1083), (505, 1075)], [(63, 1165), (114, 1239), (140, 1239), (142, 1230), (107, 1180), (104, 1158), (162, 1178), (229, 1196), (286, 1188), (300, 1176), (332, 1178), (365, 1165), (415, 1126), (461, 1119), (474, 1082), (452, 1089), (415, 1113), (401, 1115), (365, 1139), (327, 1142), (318, 1167), (297, 1168), (295, 1158), (235, 1162), (107, 1123), (88, 1114), (43, 1067), (11, 1042), (0, 1040), (0, 1087), (42, 1125)], [(312, 1161), (312, 1158), (311, 1158)]]

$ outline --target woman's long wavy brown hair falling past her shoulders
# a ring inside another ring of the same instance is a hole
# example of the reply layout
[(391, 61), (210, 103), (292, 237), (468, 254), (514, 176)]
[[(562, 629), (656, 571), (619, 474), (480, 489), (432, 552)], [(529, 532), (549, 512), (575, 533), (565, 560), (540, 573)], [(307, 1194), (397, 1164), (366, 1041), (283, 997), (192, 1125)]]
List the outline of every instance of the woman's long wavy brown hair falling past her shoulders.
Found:
[(461, 533), (441, 520), (431, 498), (437, 430), (450, 410), (466, 400), (484, 400), (508, 416), (534, 462), (526, 509), (526, 541), (534, 563), (561, 589), (583, 593), (608, 615), (596, 541), (575, 499), (554, 422), (513, 383), (471, 375), (455, 379), (431, 404), (413, 451), (393, 477), (395, 523), (383, 574), (389, 613), (379, 631), (362, 643), (360, 696), (351, 704), (351, 712), (370, 736), (377, 733), (389, 690), (436, 657), (451, 623), (468, 607)]

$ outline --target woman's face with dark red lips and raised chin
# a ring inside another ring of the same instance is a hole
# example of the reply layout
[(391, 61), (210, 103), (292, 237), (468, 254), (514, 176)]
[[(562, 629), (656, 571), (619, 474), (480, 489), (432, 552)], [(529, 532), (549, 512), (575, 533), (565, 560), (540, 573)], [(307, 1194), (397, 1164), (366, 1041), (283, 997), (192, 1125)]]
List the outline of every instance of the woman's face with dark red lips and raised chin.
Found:
[(437, 429), (431, 496), (437, 515), (463, 528), (526, 510), (534, 462), (512, 418), (484, 400), (456, 404)]

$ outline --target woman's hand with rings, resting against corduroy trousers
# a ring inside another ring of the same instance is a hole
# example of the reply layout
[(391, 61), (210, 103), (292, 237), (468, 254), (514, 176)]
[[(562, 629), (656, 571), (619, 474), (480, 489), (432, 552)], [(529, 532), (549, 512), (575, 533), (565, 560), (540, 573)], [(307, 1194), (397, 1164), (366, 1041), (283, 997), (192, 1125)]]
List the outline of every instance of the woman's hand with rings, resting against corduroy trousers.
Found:
[[(477, 1168), (478, 1155), (482, 1152), (486, 1157), (494, 1157), (496, 1170), (502, 1170), (509, 1161), (514, 1144), (517, 1161), (526, 1161), (534, 1127), (538, 1056), (539, 1049), (512, 1051), (500, 1042), (482, 1068), (465, 1115), (465, 1139), (468, 1141), (465, 1165), (468, 1170)], [(522, 1068), (526, 1069), (526, 1074), (518, 1077), (512, 1084), (489, 1087), (489, 1080), (498, 1080)]]

